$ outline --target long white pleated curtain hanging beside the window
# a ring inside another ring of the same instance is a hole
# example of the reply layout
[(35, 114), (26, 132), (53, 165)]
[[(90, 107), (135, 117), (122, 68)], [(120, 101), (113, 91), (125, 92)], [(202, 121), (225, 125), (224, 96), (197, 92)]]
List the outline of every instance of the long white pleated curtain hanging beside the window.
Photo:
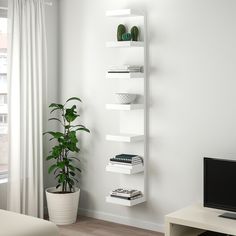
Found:
[(9, 0), (8, 209), (43, 217), (43, 101), (46, 37), (43, 0)]

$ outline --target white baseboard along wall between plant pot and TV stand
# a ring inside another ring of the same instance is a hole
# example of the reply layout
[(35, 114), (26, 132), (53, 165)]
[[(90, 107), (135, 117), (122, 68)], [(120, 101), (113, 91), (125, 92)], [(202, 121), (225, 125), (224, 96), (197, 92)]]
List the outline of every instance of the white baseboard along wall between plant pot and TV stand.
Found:
[(79, 209), (79, 215), (164, 233), (163, 224), (157, 224), (149, 221), (131, 219), (124, 216), (113, 215), (106, 212), (93, 211), (83, 208)]

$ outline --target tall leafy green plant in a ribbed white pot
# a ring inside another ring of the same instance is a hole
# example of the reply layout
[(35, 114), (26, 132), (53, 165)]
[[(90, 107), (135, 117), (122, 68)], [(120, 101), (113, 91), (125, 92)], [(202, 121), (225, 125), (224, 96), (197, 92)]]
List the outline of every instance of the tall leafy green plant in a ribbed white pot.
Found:
[(51, 114), (59, 112), (59, 117), (50, 118), (49, 121), (56, 121), (60, 125), (59, 131), (48, 131), (44, 134), (50, 135), (54, 146), (49, 152), (46, 160), (52, 164), (48, 173), (53, 174), (57, 186), (46, 189), (49, 219), (58, 224), (72, 224), (76, 221), (80, 189), (76, 187), (78, 174), (81, 172), (78, 167), (77, 134), (79, 132), (90, 132), (85, 126), (78, 124), (79, 118), (76, 105), (68, 107), (70, 101), (81, 102), (77, 97), (69, 98), (65, 104), (52, 103)]

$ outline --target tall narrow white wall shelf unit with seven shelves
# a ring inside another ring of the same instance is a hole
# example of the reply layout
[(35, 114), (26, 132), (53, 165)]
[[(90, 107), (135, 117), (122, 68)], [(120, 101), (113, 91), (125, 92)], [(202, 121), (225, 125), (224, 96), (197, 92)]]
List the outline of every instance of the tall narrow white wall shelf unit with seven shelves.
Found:
[[(106, 202), (121, 206), (135, 206), (143, 203), (147, 199), (147, 33), (146, 14), (133, 9), (110, 10), (106, 12), (109, 18), (109, 30), (112, 34), (111, 41), (106, 42), (110, 50), (109, 63), (113, 65), (140, 65), (142, 72), (138, 73), (108, 73), (106, 78), (115, 81), (116, 92), (134, 93), (140, 98), (140, 104), (106, 104), (107, 110), (115, 110), (118, 124), (118, 134), (106, 135), (106, 140), (120, 142), (114, 145), (114, 153), (127, 153), (139, 155), (143, 158), (143, 163), (136, 166), (122, 166), (122, 164), (107, 164), (106, 171), (120, 174), (117, 188), (132, 188), (140, 190), (142, 196), (134, 200), (127, 200), (117, 197), (106, 197)], [(116, 41), (116, 29), (119, 24), (124, 24), (130, 31), (132, 26), (139, 28), (139, 41)], [(132, 49), (129, 49), (132, 48)], [(127, 79), (127, 80), (126, 80)], [(125, 111), (125, 112), (123, 112)], [(110, 154), (108, 154), (110, 155)], [(114, 154), (113, 154), (114, 155)]]

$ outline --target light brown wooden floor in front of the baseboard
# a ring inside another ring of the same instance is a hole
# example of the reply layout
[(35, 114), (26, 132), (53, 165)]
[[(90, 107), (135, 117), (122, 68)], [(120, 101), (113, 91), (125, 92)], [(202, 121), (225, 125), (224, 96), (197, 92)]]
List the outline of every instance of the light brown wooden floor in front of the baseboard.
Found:
[(81, 216), (77, 223), (59, 228), (61, 236), (164, 236), (149, 230)]

